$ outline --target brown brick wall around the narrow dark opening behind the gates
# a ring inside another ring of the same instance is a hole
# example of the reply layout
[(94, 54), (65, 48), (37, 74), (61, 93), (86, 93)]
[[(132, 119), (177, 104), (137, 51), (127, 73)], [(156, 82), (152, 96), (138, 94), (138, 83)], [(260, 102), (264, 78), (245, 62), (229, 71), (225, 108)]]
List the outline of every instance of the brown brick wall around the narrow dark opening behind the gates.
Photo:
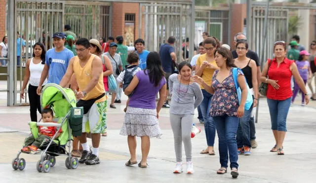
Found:
[(125, 13), (135, 14), (134, 39), (138, 38), (139, 3), (113, 2), (112, 3), (112, 36), (123, 36), (125, 28)]

